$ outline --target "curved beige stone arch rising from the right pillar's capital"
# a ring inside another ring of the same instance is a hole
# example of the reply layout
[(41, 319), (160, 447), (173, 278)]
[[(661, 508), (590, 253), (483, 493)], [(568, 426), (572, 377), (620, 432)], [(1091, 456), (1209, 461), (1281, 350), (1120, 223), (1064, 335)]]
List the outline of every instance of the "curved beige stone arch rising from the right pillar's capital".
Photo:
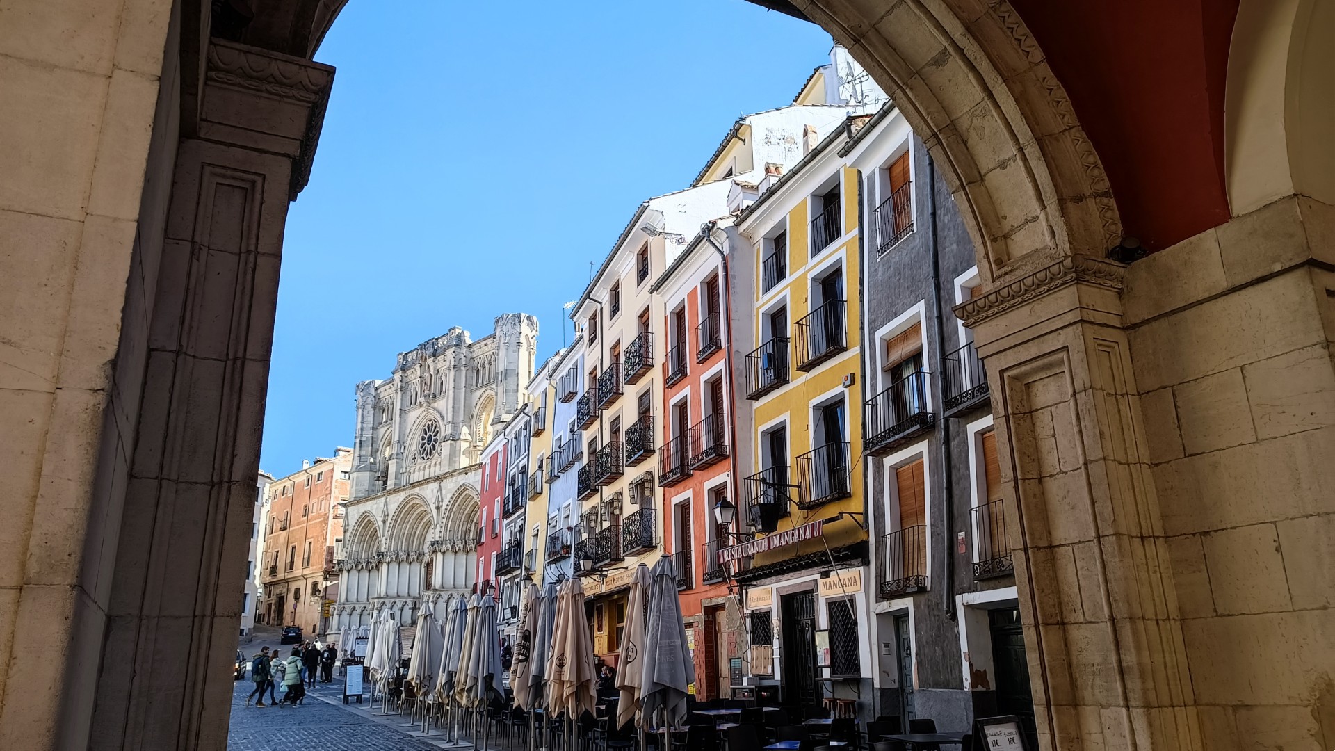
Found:
[(1103, 164), (1004, 0), (793, 0), (844, 44), (926, 143), (985, 285), (1121, 239)]

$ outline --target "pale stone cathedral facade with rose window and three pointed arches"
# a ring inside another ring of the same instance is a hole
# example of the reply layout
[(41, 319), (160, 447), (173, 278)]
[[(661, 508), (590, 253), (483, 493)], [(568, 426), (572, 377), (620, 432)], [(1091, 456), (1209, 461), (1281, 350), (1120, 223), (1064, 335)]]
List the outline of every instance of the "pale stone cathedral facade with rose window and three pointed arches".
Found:
[(331, 631), (376, 612), (411, 623), (423, 601), (471, 591), (478, 462), (527, 401), (537, 318), (497, 317), (473, 341), (453, 327), (399, 353), (394, 374), (356, 385), (352, 497)]

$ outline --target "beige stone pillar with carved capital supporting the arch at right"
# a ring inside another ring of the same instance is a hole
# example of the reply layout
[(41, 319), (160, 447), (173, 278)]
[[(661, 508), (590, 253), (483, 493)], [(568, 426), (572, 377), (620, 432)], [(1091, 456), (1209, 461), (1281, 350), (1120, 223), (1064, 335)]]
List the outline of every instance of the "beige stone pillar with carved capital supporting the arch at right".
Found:
[(975, 331), (1009, 496), (1044, 748), (1202, 748), (1121, 299), (1075, 255), (956, 311)]

